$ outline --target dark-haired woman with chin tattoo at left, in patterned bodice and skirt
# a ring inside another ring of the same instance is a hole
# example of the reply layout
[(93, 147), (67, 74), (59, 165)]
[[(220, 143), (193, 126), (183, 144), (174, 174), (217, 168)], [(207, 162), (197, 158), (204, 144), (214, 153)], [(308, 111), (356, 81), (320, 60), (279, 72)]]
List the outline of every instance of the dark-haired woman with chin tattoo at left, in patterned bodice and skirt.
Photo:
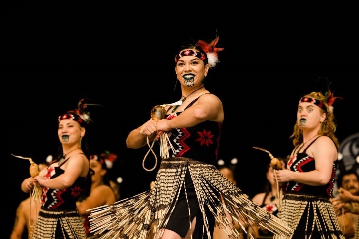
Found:
[[(29, 193), (41, 186), (41, 209), (30, 232), (31, 239), (85, 239), (86, 231), (76, 202), (88, 196), (91, 188), (85, 126), (90, 122), (81, 100), (78, 109), (59, 116), (58, 157), (39, 175), (25, 179), (21, 189)], [(86, 153), (85, 153), (86, 152)]]

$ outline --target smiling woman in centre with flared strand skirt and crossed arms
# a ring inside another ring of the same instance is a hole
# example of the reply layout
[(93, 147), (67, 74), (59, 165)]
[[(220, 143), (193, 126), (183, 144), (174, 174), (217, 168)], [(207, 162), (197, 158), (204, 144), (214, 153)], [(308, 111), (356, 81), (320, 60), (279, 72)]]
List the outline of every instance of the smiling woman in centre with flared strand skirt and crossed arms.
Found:
[[(214, 166), (224, 111), (221, 100), (205, 88), (205, 78), (223, 50), (216, 47), (217, 43), (218, 37), (210, 43), (198, 41), (177, 52), (174, 70), (181, 89), (179, 101), (154, 107), (152, 119), (127, 136), (126, 144), (131, 149), (150, 146), (149, 142), (153, 145), (160, 137), (162, 161), (149, 191), (92, 209), (91, 229), (104, 231), (102, 239), (145, 239), (152, 226), (154, 239), (206, 239), (212, 238), (216, 222), (228, 237), (234, 238), (240, 235), (234, 227), (239, 220), (290, 235), (290, 228), (257, 207)], [(152, 53), (163, 54), (154, 49)], [(145, 159), (146, 156), (142, 161), (144, 170), (154, 170), (157, 161), (148, 169)]]

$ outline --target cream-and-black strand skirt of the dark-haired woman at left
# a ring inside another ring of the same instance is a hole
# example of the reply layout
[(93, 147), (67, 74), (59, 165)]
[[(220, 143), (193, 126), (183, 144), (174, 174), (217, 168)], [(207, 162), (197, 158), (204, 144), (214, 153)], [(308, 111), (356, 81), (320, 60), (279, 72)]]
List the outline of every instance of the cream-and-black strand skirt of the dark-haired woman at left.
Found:
[[(58, 223), (60, 227), (57, 228)], [(54, 239), (56, 233), (62, 234), (63, 238), (86, 239), (84, 223), (76, 210), (41, 208), (29, 239)]]

